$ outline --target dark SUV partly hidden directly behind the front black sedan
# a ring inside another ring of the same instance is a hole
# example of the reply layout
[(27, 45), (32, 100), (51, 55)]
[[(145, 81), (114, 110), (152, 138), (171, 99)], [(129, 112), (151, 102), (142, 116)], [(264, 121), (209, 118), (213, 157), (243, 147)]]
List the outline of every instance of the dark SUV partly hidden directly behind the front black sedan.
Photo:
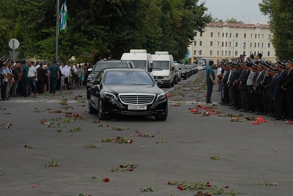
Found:
[(134, 65), (131, 61), (123, 61), (123, 60), (101, 60), (96, 63), (94, 68), (92, 68), (92, 73), (87, 77), (86, 83), (86, 97), (89, 98), (89, 88), (92, 85), (92, 81), (96, 79), (97, 74), (106, 68), (134, 68)]

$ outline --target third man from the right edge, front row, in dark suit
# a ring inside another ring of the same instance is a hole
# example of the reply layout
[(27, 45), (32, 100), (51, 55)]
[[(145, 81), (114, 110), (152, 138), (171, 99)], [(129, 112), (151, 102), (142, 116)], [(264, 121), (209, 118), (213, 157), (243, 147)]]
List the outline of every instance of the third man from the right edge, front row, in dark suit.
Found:
[(256, 106), (257, 106), (257, 115), (264, 115), (264, 108), (263, 108), (263, 103), (262, 103), (262, 90), (263, 87), (261, 86), (261, 82), (263, 81), (264, 75), (265, 75), (265, 71), (263, 69), (263, 65), (261, 63), (258, 64), (257, 66), (257, 70), (258, 70), (258, 75), (256, 78), (256, 85), (255, 85), (255, 90), (256, 90)]

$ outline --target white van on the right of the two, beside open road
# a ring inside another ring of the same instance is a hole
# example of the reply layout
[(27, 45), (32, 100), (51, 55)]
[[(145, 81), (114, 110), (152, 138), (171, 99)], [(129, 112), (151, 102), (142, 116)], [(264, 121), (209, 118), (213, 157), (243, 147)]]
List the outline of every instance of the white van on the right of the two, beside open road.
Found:
[(173, 87), (176, 79), (173, 56), (169, 55), (169, 52), (155, 52), (151, 57), (153, 78), (156, 81), (162, 80), (168, 88)]

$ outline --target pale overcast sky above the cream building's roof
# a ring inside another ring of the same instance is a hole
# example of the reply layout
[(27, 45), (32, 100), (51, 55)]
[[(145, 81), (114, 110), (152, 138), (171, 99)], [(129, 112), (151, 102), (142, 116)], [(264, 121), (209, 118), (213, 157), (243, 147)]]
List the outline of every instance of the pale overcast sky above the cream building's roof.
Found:
[[(204, 0), (202, 0), (204, 1)], [(208, 13), (227, 20), (231, 17), (249, 24), (267, 24), (268, 17), (259, 11), (261, 0), (205, 0)]]

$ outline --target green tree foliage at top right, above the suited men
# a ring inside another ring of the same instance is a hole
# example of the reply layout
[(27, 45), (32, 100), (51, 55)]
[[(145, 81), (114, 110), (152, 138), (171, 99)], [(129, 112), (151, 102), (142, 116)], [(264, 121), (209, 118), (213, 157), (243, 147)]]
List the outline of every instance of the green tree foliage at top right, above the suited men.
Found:
[(293, 57), (292, 7), (292, 0), (262, 0), (259, 3), (260, 11), (269, 16), (273, 33), (271, 41), (279, 59), (288, 60)]

